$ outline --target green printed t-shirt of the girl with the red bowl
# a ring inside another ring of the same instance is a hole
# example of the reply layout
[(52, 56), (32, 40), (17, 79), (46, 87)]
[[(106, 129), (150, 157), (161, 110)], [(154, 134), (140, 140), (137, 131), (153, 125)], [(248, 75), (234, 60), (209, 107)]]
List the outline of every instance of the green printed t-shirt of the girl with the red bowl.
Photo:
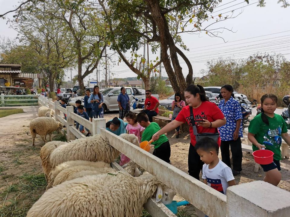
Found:
[[(275, 114), (273, 118), (266, 116), (269, 120), (269, 125), (262, 121), (262, 113), (257, 115), (250, 121), (249, 133), (255, 134), (255, 139), (258, 143), (265, 145), (266, 149), (274, 152), (274, 159), (281, 159), (280, 146), (282, 143), (282, 133), (287, 133), (287, 127), (284, 119)], [(253, 144), (253, 151), (258, 148)]]

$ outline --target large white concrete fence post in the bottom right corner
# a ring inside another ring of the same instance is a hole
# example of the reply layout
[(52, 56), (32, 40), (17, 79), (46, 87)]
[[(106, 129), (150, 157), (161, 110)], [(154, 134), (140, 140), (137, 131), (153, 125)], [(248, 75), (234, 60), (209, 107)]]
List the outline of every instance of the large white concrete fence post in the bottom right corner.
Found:
[(227, 217), (286, 217), (290, 192), (264, 181), (234, 185), (226, 190)]

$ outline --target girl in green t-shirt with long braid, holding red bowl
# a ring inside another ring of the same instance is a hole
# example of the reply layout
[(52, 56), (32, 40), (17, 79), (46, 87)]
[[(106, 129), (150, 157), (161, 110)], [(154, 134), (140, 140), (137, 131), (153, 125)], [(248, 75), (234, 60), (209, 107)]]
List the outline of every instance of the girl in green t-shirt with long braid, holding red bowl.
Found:
[(274, 94), (265, 94), (261, 97), (261, 114), (250, 122), (248, 139), (253, 143), (253, 151), (265, 148), (274, 153), (274, 161), (271, 164), (261, 165), (266, 176), (264, 181), (277, 186), (281, 181), (280, 146), (282, 138), (290, 146), (284, 119), (275, 114), (278, 98)]

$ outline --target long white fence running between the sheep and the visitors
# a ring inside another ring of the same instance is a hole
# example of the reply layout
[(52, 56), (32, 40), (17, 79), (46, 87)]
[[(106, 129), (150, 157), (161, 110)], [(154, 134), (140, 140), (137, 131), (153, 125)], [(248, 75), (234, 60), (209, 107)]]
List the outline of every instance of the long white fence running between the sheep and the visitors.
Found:
[[(105, 129), (106, 120), (104, 118), (93, 119), (93, 122), (90, 122), (79, 115), (74, 114), (72, 106), (67, 106), (65, 109), (60, 106), (59, 102), (52, 102), (52, 99), (45, 99), (43, 96), (39, 96), (39, 104), (55, 110), (56, 119), (67, 126), (67, 140), (73, 140), (75, 137), (84, 137), (84, 135), (74, 127), (74, 120), (88, 128), (93, 135), (102, 134), (106, 136), (109, 143), (114, 148), (118, 149), (121, 153), (124, 153), (149, 173), (155, 175), (164, 184), (176, 191), (178, 195), (189, 201), (210, 217), (282, 217), (286, 215), (281, 213), (290, 213), (289, 203), (287, 203), (287, 205), (285, 205), (285, 203), (278, 203), (279, 198), (290, 198), (290, 193), (285, 190), (263, 182), (265, 183), (263, 184), (264, 187), (254, 187), (254, 189), (251, 189), (251, 192), (247, 194), (244, 190), (240, 190), (243, 185), (240, 184), (238, 186), (229, 187), (227, 192), (230, 193), (227, 193), (228, 197), (226, 197), (226, 195), (214, 190), (208, 185), (205, 185), (203, 182), (198, 181), (180, 169), (107, 131)], [(64, 120), (64, 116), (60, 115), (60, 112), (67, 114), (67, 120)], [(118, 168), (116, 164), (115, 167)], [(253, 182), (253, 184), (257, 183)], [(275, 191), (279, 191), (280, 193), (277, 195)], [(271, 200), (265, 200), (264, 192), (267, 193), (266, 197), (271, 198)], [(232, 200), (235, 200), (236, 202), (231, 203)], [(267, 201), (269, 201), (269, 206), (277, 201), (277, 203), (275, 203), (275, 208), (271, 207), (267, 209), (265, 205), (265, 203), (268, 203)], [(237, 206), (239, 206), (239, 213), (236, 213), (235, 211)], [(147, 203), (144, 204), (144, 208), (153, 217), (175, 216), (162, 203), (156, 203), (155, 200), (152, 199), (149, 199)], [(249, 210), (254, 211), (249, 212)], [(281, 210), (283, 212), (281, 212)], [(267, 215), (260, 215), (259, 213), (267, 213)]]

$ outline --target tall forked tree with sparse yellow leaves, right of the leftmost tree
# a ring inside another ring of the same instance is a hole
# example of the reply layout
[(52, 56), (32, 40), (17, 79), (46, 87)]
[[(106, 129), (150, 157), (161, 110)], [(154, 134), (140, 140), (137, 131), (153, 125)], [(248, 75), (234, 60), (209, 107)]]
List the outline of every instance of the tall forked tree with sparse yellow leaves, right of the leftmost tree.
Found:
[[(77, 55), (78, 82), (83, 93), (83, 79), (97, 68), (106, 49), (106, 26), (93, 1), (57, 0), (47, 4), (54, 10), (46, 13), (61, 20), (73, 36), (71, 49)], [(83, 65), (86, 68), (84, 73)]]

